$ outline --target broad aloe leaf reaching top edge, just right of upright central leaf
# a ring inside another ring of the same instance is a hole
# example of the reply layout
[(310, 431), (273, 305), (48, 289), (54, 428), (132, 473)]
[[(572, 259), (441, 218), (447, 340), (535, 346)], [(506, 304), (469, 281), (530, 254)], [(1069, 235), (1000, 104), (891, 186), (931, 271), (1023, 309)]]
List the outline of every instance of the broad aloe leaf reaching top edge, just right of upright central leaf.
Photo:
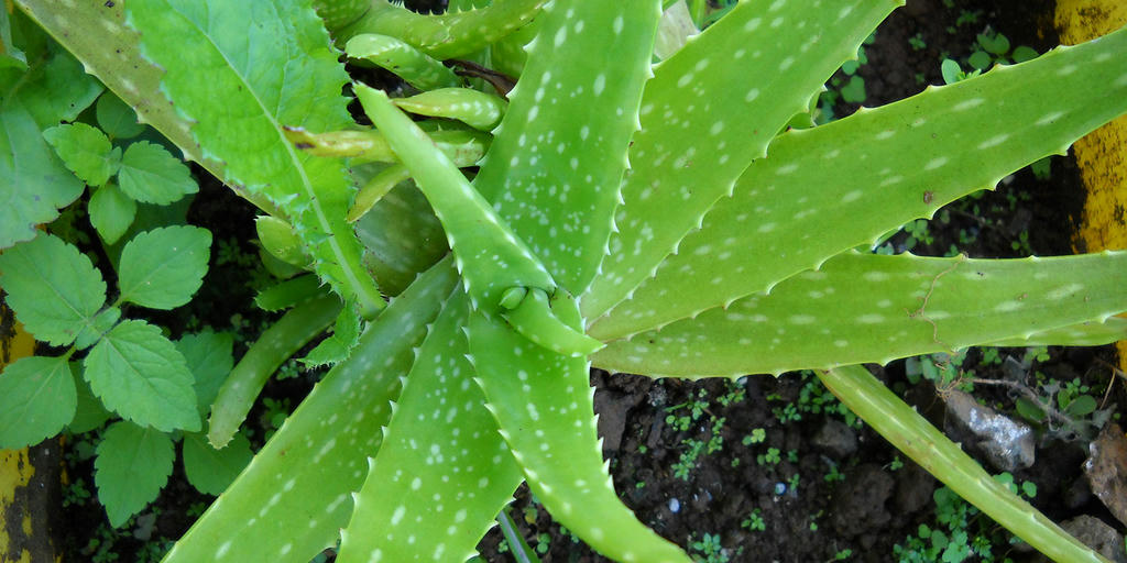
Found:
[[(752, 159), (903, 1), (740, 2), (654, 69), (602, 275), (584, 294), (594, 320), (625, 298), (731, 194)], [(817, 41), (792, 26), (818, 29)], [(735, 63), (739, 72), (715, 69)]]

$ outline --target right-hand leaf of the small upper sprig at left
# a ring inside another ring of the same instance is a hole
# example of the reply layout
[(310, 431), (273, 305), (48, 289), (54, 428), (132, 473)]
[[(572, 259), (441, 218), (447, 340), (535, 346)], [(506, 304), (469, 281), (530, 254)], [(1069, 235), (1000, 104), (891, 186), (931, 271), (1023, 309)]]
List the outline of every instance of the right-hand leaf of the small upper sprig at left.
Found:
[(133, 199), (156, 205), (168, 205), (199, 190), (180, 159), (148, 141), (137, 141), (125, 149), (117, 182)]

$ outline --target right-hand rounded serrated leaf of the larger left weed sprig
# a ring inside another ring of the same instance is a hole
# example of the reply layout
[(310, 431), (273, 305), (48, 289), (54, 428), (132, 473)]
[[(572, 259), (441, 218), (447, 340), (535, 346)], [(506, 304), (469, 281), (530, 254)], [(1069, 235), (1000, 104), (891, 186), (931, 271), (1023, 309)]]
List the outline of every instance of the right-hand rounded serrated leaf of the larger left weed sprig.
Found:
[(207, 274), (212, 235), (198, 226), (145, 231), (122, 250), (117, 285), (122, 301), (175, 309), (192, 300)]

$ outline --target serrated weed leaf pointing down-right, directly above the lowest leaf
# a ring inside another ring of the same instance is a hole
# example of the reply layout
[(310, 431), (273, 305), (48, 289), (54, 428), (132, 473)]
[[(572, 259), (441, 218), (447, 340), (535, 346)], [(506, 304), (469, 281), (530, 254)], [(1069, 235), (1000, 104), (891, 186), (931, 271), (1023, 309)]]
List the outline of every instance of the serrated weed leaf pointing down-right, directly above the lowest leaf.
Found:
[(90, 350), (83, 366), (90, 388), (122, 418), (161, 431), (199, 430), (192, 372), (157, 327), (122, 322)]

